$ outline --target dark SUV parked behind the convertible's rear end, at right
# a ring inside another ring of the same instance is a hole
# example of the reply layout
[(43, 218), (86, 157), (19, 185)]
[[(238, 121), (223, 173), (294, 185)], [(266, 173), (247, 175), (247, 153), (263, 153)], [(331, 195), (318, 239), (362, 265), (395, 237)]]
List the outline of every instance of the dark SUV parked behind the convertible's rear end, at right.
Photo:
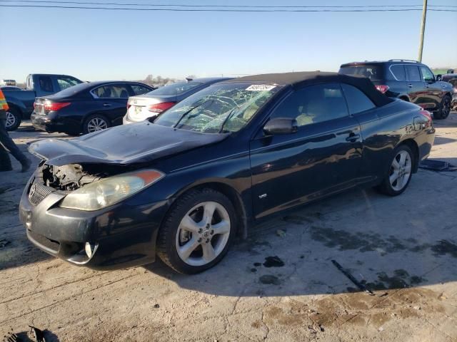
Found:
[(346, 63), (341, 65), (339, 73), (366, 76), (381, 93), (416, 103), (433, 112), (435, 119), (446, 119), (451, 112), (451, 83), (437, 81), (430, 68), (418, 61)]

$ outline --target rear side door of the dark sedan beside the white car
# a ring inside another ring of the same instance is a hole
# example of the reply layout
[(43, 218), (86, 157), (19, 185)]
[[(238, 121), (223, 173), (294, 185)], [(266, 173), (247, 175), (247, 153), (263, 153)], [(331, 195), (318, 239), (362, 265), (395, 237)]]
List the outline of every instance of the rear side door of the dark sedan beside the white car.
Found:
[(91, 90), (94, 96), (94, 111), (106, 116), (112, 125), (121, 125), (126, 113), (129, 90), (125, 83), (109, 83)]

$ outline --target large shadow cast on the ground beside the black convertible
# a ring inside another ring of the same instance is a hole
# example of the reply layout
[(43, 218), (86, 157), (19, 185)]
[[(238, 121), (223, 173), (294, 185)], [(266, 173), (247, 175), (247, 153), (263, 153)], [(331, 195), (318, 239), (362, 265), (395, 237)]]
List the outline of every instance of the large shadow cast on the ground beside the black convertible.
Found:
[(413, 180), (416, 191), (401, 197), (353, 190), (258, 224), (220, 264), (201, 274), (177, 274), (161, 261), (145, 268), (181, 288), (218, 296), (360, 291), (332, 260), (375, 294), (456, 281), (453, 223), (428, 212), (421, 219), (414, 214), (418, 208), (407, 204), (422, 192), (419, 182)]

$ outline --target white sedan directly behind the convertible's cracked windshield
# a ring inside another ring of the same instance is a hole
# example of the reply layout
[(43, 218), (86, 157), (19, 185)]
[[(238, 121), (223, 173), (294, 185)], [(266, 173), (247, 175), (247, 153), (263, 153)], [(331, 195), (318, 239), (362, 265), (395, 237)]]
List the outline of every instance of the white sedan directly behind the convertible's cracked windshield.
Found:
[(124, 125), (138, 123), (147, 118), (157, 116), (197, 91), (209, 87), (216, 82), (229, 79), (231, 78), (196, 78), (194, 80), (172, 83), (141, 96), (132, 96), (127, 103), (127, 113), (124, 115), (123, 123)]

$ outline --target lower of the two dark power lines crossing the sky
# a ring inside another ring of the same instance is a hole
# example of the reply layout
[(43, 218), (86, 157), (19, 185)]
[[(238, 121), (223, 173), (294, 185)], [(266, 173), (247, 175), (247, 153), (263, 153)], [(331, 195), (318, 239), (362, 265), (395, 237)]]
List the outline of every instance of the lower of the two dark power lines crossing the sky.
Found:
[[(91, 3), (85, 3), (91, 4)], [(129, 4), (131, 6), (131, 4)], [(406, 12), (422, 11), (422, 9), (131, 9), (128, 7), (94, 7), (94, 6), (57, 6), (57, 5), (2, 5), (12, 8), (39, 8), (39, 9), (99, 9), (106, 11), (173, 11), (173, 12)], [(457, 9), (429, 9), (428, 11), (457, 12)]]

